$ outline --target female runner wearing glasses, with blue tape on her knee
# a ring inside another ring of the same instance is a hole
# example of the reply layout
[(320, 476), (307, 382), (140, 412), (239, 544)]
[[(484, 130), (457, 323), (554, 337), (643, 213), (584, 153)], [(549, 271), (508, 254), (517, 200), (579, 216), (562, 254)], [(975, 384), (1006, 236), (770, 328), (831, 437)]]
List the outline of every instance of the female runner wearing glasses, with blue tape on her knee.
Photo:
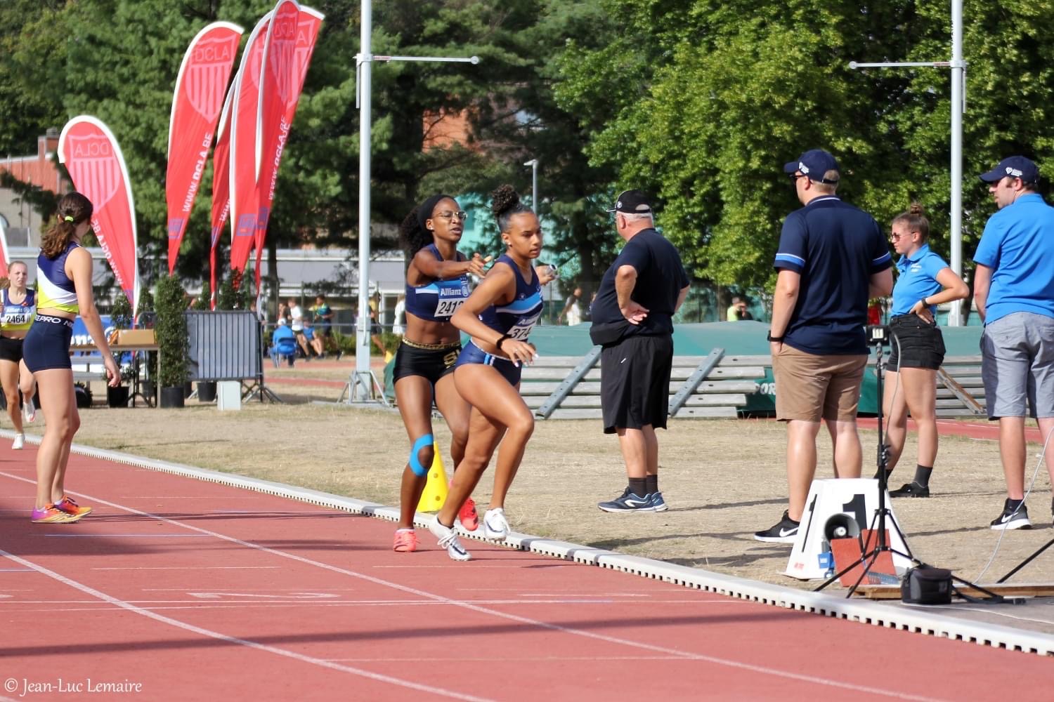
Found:
[[(399, 228), (410, 258), (406, 272), (406, 332), (395, 352), (395, 400), (410, 436), (410, 459), (403, 469), (399, 524), (394, 550), (417, 549), (413, 516), (428, 482), (435, 457), (432, 400), (452, 435), (450, 458), (456, 466), (468, 438), (468, 403), (454, 387), (454, 361), (461, 353), (461, 333), (450, 317), (468, 299), (468, 275), (484, 275), (489, 261), (479, 254), (470, 260), (457, 253), (465, 213), (448, 195), (433, 195), (414, 208)], [(479, 526), (472, 498), (460, 512), (469, 530)]]

